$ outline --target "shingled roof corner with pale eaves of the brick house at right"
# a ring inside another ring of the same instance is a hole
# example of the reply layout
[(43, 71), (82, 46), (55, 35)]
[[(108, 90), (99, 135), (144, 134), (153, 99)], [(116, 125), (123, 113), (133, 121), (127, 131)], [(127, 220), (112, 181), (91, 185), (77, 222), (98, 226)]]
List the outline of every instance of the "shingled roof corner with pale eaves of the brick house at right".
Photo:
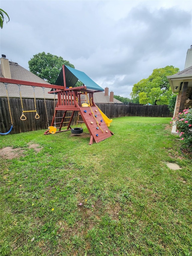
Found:
[(172, 92), (179, 92), (180, 85), (184, 82), (188, 82), (188, 86), (192, 86), (192, 66), (185, 68), (178, 73), (167, 76)]

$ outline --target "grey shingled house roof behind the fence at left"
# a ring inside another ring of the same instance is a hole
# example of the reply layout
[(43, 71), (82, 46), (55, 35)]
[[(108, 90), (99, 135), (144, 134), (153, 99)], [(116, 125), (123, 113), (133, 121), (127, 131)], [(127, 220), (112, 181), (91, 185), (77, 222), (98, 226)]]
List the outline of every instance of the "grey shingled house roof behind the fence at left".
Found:
[[(11, 79), (49, 84), (48, 82), (36, 76), (32, 72), (21, 67), (16, 62), (9, 61), (9, 68), (10, 68)], [(1, 65), (0, 65), (0, 77), (4, 77), (1, 70)], [(19, 98), (19, 88), (16, 84), (12, 84), (12, 83), (8, 84), (7, 89), (9, 92), (9, 97)], [(34, 98), (34, 92), (33, 92), (32, 86), (22, 85), (20, 86), (20, 90), (21, 90), (22, 98)], [(48, 94), (48, 92), (50, 92), (50, 88), (45, 88), (44, 91), (45, 91), (46, 99), (53, 99), (54, 95)], [(0, 97), (7, 97), (6, 88), (3, 83), (0, 83)], [(35, 97), (44, 98), (44, 92), (41, 87), (35, 87)]]

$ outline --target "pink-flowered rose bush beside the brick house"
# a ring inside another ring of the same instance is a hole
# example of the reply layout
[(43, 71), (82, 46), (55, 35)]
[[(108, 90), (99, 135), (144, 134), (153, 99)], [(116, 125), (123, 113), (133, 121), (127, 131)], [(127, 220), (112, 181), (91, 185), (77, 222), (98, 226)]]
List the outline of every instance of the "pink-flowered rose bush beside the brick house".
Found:
[(178, 118), (173, 117), (172, 120), (177, 126), (177, 132), (181, 140), (192, 151), (192, 108), (184, 109), (178, 114)]

